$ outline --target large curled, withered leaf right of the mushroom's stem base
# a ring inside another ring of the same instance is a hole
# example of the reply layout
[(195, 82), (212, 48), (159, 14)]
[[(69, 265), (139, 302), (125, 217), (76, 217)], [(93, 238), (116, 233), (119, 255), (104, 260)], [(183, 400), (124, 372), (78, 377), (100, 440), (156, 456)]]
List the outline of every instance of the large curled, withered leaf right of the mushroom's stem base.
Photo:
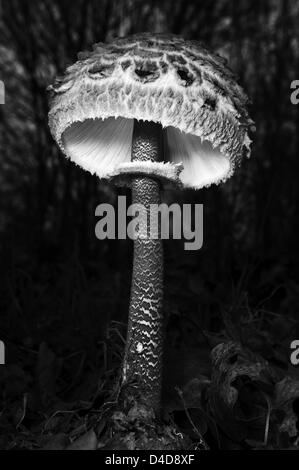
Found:
[(263, 439), (268, 413), (265, 393), (273, 388), (272, 370), (256, 354), (232, 341), (213, 349), (209, 408), (222, 431), (234, 441), (253, 436)]

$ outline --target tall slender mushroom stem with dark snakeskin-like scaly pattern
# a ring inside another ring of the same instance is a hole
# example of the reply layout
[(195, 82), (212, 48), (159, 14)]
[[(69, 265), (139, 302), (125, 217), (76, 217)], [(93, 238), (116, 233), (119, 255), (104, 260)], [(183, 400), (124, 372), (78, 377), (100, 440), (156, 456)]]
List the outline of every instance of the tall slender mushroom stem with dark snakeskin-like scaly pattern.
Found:
[[(160, 161), (163, 136), (160, 124), (135, 121), (132, 160)], [(163, 245), (159, 224), (156, 237), (149, 233), (152, 204), (160, 204), (159, 182), (148, 176), (132, 180), (132, 202), (142, 204), (146, 220), (139, 224), (134, 240), (133, 276), (123, 381), (137, 381), (146, 402), (161, 407), (163, 349)], [(154, 206), (157, 207), (157, 206)], [(156, 218), (157, 220), (157, 218)]]

